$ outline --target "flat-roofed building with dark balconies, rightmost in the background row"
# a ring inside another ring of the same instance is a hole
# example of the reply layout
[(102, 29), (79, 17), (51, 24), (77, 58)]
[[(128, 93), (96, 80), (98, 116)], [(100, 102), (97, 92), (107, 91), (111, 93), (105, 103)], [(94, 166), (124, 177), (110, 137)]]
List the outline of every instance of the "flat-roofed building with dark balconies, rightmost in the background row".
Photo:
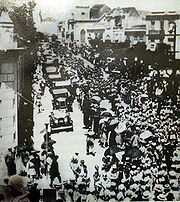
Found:
[(175, 11), (152, 12), (146, 16), (147, 49), (158, 44), (170, 45), (174, 58), (180, 59), (180, 14)]

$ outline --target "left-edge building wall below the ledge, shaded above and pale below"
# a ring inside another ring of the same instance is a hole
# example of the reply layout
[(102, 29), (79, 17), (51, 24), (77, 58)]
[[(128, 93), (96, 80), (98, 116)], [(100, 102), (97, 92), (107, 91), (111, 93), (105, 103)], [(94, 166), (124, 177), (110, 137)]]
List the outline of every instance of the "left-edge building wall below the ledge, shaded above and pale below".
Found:
[(5, 151), (17, 145), (17, 110), (19, 94), (24, 87), (24, 61), (18, 50), (1, 51), (0, 54), (0, 148)]

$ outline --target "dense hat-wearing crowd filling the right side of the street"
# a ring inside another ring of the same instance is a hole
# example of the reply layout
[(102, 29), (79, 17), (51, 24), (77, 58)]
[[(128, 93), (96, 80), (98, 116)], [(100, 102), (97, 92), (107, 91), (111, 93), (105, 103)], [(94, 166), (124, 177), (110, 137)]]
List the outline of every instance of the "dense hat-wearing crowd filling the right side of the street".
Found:
[(79, 65), (78, 76), (84, 126), (105, 148), (103, 167), (96, 167), (96, 197), (177, 200), (178, 96), (167, 95), (163, 75), (141, 58), (124, 57), (113, 66), (95, 54), (88, 53), (93, 66)]

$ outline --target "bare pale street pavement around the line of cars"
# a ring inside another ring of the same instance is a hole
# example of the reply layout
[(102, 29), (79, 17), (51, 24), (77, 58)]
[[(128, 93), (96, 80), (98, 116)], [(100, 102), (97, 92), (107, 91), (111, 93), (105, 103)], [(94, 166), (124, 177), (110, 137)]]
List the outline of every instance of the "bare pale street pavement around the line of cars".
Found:
[[(77, 56), (84, 61), (84, 66), (87, 65), (93, 67), (93, 65), (82, 58)], [(40, 70), (41, 71), (41, 68)], [(41, 74), (42, 75), (42, 74)], [(49, 115), (53, 110), (52, 106), (53, 97), (49, 92), (49, 87), (45, 87), (44, 95), (41, 97), (42, 110), (39, 113), (39, 108), (34, 104), (34, 148), (35, 150), (41, 151), (41, 144), (44, 141), (45, 134), (45, 123), (49, 123)], [(70, 162), (75, 152), (79, 153), (80, 159), (85, 159), (85, 164), (88, 167), (88, 176), (91, 179), (90, 187), (93, 189), (93, 174), (95, 165), (102, 165), (102, 157), (104, 155), (104, 149), (99, 147), (98, 140), (95, 140), (94, 150), (96, 153), (96, 158), (92, 155), (86, 155), (86, 138), (87, 129), (83, 128), (83, 114), (80, 110), (79, 103), (77, 99), (74, 100), (73, 112), (70, 112), (70, 117), (73, 121), (73, 131), (69, 132), (59, 132), (51, 135), (52, 139), (56, 141), (53, 145), (56, 155), (59, 156), (59, 170), (61, 178), (63, 181), (73, 179), (74, 175), (70, 168)], [(50, 127), (48, 128), (50, 131)], [(49, 187), (50, 179), (43, 178), (38, 180), (38, 183), (43, 187)], [(55, 179), (54, 183), (58, 184), (58, 180)]]

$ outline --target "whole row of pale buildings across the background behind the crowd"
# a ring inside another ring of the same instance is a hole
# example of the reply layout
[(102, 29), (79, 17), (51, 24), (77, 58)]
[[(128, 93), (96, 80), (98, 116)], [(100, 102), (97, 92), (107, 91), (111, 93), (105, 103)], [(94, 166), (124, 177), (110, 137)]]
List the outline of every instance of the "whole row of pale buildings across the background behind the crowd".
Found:
[(158, 44), (170, 45), (174, 58), (180, 59), (180, 15), (175, 11), (148, 12), (135, 7), (110, 9), (104, 4), (76, 6), (58, 25), (63, 43), (89, 45), (91, 39), (125, 43), (146, 43), (155, 51)]

